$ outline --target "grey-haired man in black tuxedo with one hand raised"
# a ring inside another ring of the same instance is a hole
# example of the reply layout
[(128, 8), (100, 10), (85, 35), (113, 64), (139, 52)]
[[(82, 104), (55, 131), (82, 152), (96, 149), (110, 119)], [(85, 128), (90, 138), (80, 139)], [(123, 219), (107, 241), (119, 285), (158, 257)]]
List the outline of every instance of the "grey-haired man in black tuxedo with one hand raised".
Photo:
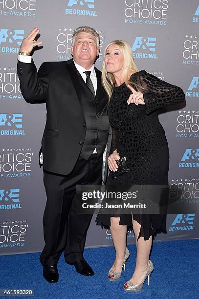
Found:
[(78, 273), (94, 275), (83, 257), (92, 215), (76, 213), (76, 185), (101, 184), (110, 128), (108, 96), (101, 85), (101, 72), (93, 65), (100, 50), (94, 29), (85, 26), (74, 31), (73, 59), (43, 63), (37, 72), (30, 53), (42, 43), (35, 41), (38, 33), (36, 27), (22, 41), (17, 73), (25, 101), (46, 103), (42, 152), (47, 202), (40, 261), (44, 278), (57, 282), (62, 252)]

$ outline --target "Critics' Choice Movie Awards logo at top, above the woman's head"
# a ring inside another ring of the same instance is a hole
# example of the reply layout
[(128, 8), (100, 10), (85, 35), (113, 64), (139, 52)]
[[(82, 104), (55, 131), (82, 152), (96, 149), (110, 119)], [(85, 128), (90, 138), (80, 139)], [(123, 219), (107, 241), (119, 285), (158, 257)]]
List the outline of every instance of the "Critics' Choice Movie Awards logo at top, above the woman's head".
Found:
[(170, 0), (125, 0), (125, 23), (167, 25)]

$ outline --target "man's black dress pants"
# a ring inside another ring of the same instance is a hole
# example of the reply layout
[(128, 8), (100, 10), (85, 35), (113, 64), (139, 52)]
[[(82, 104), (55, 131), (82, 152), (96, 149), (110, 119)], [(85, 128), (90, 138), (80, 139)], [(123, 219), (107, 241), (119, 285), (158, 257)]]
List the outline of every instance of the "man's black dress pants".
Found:
[(76, 213), (76, 185), (100, 185), (102, 162), (103, 157), (97, 160), (97, 154), (92, 154), (88, 161), (79, 157), (68, 175), (44, 171), (47, 201), (43, 218), (45, 246), (40, 256), (43, 266), (57, 264), (63, 251), (68, 264), (83, 259), (92, 215)]

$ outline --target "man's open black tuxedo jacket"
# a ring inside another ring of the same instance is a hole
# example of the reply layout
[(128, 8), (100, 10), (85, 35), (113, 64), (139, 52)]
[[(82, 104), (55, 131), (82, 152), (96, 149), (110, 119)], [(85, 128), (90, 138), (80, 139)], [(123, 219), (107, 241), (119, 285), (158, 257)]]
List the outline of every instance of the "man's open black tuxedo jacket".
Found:
[[(101, 72), (96, 68), (95, 72), (95, 101), (102, 107), (100, 117), (107, 118), (108, 96), (101, 84)], [(25, 101), (31, 104), (46, 103), (46, 124), (42, 138), (44, 170), (63, 175), (70, 173), (86, 134), (86, 122), (80, 104), (81, 90), (78, 88), (79, 79), (73, 60), (43, 63), (38, 72), (33, 61), (31, 64), (18, 61), (17, 73)]]

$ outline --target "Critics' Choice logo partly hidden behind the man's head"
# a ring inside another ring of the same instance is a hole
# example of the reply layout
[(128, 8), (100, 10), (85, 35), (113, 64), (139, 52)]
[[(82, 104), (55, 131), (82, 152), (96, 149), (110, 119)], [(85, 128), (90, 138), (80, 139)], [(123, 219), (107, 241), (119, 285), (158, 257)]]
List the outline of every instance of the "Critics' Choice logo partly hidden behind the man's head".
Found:
[[(105, 35), (103, 30), (97, 30), (100, 37), (100, 54), (97, 61), (102, 61), (102, 47), (104, 44)], [(72, 28), (59, 28), (59, 33), (57, 34), (57, 59), (58, 60), (68, 60), (72, 58), (70, 47), (72, 43), (72, 33), (74, 29)]]

